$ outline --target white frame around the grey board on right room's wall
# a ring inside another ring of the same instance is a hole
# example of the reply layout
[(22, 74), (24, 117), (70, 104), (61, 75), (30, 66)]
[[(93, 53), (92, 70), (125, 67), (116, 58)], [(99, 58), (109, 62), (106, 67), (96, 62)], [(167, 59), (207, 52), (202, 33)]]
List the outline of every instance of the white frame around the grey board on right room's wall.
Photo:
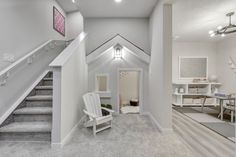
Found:
[[(181, 59), (183, 58), (204, 58), (207, 60), (207, 67), (206, 67), (206, 77), (181, 77), (180, 76), (180, 66), (181, 66)], [(189, 80), (189, 79), (208, 79), (208, 56), (179, 56), (179, 80)]]

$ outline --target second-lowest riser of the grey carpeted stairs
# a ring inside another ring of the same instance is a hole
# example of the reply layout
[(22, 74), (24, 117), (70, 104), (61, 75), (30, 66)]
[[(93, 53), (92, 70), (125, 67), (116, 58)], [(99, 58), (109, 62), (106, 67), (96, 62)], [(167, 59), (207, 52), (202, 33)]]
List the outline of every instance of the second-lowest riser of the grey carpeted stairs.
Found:
[(52, 115), (14, 115), (15, 122), (48, 122)]

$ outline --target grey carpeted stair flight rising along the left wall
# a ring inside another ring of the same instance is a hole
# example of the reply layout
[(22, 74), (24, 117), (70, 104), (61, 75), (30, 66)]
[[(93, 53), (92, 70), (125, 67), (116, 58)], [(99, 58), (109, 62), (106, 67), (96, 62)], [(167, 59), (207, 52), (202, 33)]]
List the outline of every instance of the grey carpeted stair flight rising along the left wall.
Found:
[(52, 81), (49, 72), (0, 126), (0, 140), (51, 141)]

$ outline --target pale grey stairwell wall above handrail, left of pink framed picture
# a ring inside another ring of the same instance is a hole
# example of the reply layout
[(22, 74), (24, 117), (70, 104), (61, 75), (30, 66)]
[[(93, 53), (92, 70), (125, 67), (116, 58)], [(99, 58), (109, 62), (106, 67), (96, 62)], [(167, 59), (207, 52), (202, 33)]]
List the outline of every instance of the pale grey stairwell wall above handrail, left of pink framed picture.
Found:
[(53, 29), (53, 6), (65, 15), (55, 0), (0, 1), (0, 70), (9, 65), (4, 53), (18, 59), (49, 39), (65, 39)]

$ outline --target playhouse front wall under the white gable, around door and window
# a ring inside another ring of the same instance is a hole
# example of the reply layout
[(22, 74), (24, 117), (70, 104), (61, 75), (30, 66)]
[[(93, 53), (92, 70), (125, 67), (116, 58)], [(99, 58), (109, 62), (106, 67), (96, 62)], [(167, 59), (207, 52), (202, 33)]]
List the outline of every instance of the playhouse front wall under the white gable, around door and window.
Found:
[(107, 51), (96, 61), (89, 64), (89, 91), (95, 91), (96, 74), (109, 75), (109, 90), (111, 91), (111, 99), (102, 100), (103, 103), (110, 103), (115, 111), (119, 111), (117, 101), (118, 81), (120, 68), (142, 69), (143, 70), (143, 109), (147, 111), (148, 106), (148, 64), (142, 62), (133, 54), (124, 52), (125, 56), (122, 60), (114, 60), (113, 51)]

